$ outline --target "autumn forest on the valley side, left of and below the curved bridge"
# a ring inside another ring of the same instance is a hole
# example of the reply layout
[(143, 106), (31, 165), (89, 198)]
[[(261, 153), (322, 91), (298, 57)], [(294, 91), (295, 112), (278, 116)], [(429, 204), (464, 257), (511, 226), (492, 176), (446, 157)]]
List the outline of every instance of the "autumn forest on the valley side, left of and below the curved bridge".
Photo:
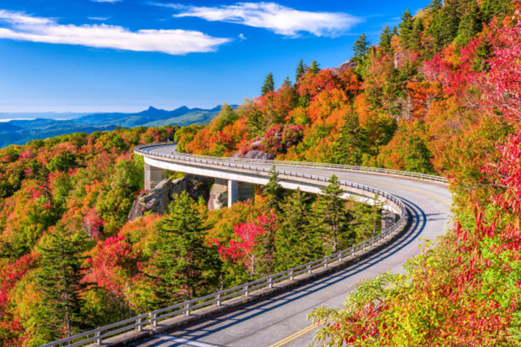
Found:
[(275, 173), (254, 201), (231, 209), (208, 211), (207, 194), (197, 192), (197, 201), (183, 192), (165, 215), (128, 222), (144, 181), (134, 145), (181, 133), (137, 127), (0, 150), (2, 346), (58, 340), (283, 271), (380, 232), (378, 205), (341, 199), (336, 178), (317, 198), (284, 191)]

